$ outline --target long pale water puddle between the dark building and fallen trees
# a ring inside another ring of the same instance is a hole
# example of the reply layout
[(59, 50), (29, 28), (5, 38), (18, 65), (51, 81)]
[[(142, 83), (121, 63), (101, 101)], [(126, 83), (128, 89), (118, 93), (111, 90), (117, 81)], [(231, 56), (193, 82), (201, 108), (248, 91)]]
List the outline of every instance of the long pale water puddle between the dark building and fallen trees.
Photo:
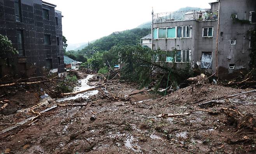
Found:
[[(79, 82), (81, 83), (81, 86), (80, 87), (75, 87), (74, 92), (79, 92), (79, 91), (82, 91), (82, 90), (87, 90), (89, 88), (94, 88), (93, 86), (88, 85), (88, 82), (89, 82), (88, 80), (92, 77), (93, 77), (93, 75), (89, 74), (89, 75), (87, 75), (87, 77), (85, 79), (79, 80)], [(66, 97), (66, 98), (63, 98), (63, 99), (59, 99), (59, 100), (57, 100), (57, 102), (63, 102), (65, 100), (74, 100), (74, 99), (77, 99), (79, 97), (88, 98), (92, 95), (96, 95), (97, 93), (98, 93), (98, 90), (79, 93), (79, 94), (77, 94), (75, 96), (72, 96), (72, 97)]]

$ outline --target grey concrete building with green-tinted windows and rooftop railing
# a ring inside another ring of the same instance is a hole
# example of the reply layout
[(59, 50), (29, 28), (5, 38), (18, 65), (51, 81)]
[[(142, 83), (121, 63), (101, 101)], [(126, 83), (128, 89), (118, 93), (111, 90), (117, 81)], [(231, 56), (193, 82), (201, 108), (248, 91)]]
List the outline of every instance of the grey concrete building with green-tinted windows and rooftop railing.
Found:
[(226, 78), (249, 70), (248, 31), (256, 25), (256, 1), (219, 0), (209, 4), (209, 10), (152, 13), (153, 50), (170, 53), (156, 55), (156, 61), (168, 66), (177, 63), (179, 68), (189, 64)]

